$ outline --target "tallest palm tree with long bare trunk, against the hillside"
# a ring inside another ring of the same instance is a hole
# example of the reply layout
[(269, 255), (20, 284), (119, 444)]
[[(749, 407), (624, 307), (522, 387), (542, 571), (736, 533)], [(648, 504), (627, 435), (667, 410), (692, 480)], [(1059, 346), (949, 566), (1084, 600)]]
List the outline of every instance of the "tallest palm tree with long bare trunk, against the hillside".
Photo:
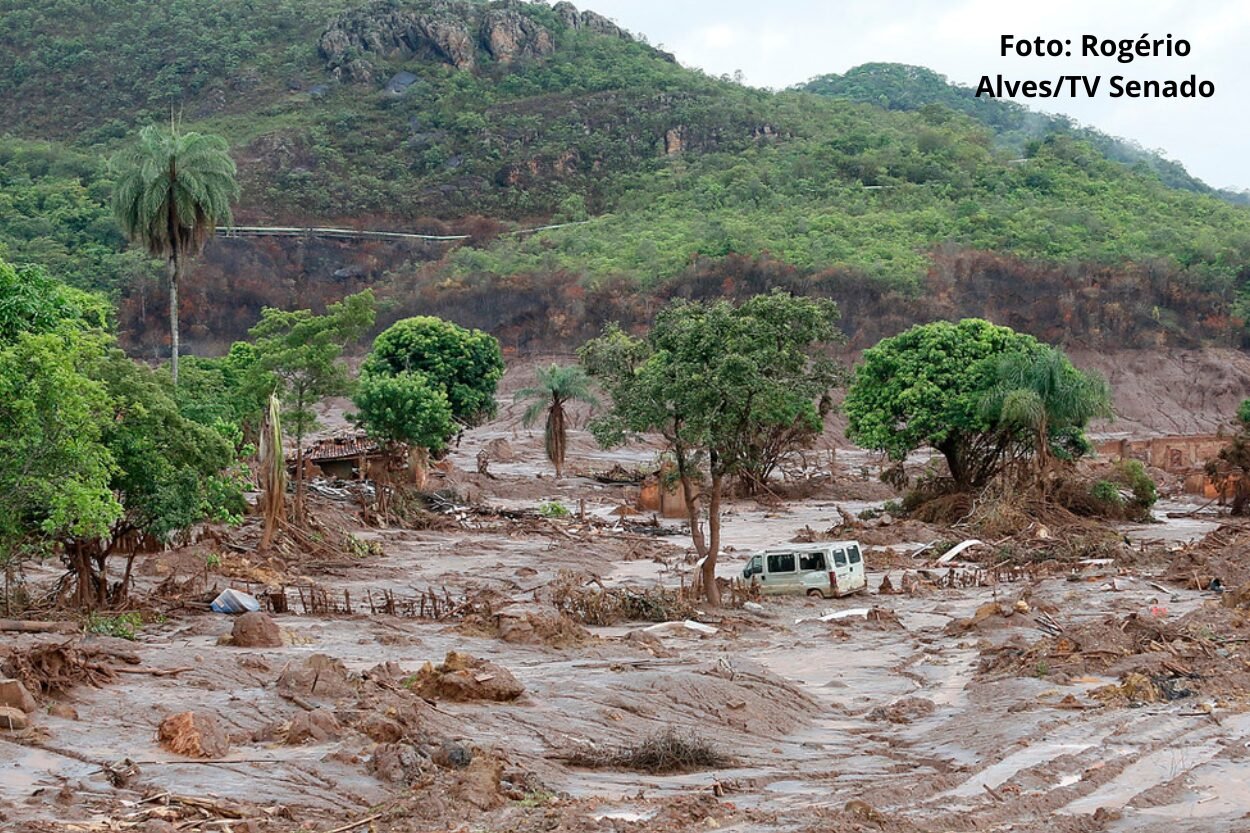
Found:
[(218, 225), (230, 225), (239, 198), (235, 164), (221, 136), (149, 125), (112, 159), (112, 210), (130, 240), (169, 264), (170, 373), (178, 384), (178, 284), (182, 264), (204, 249)]

